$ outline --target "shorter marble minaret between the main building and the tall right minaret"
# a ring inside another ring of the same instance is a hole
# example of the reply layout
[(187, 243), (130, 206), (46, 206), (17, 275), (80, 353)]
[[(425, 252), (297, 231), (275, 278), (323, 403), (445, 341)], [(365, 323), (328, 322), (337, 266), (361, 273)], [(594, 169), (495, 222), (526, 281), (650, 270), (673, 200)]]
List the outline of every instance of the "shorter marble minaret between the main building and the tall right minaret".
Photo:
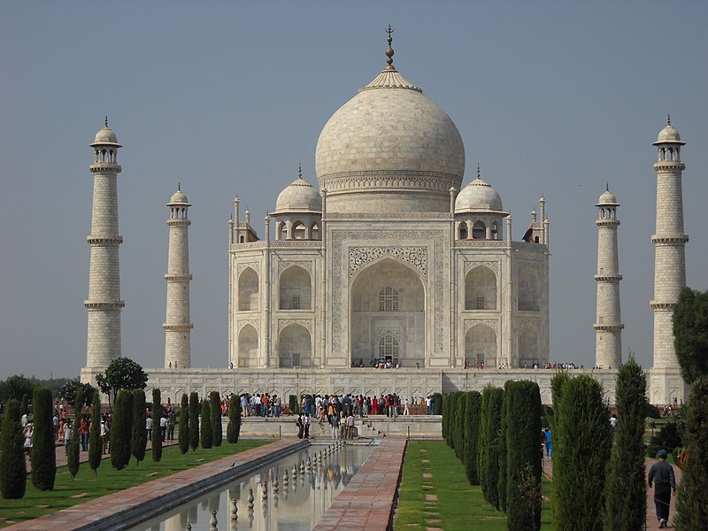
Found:
[(620, 204), (605, 188), (597, 201), (597, 315), (595, 320), (595, 365), (618, 368), (622, 363), (620, 323), (620, 259), (617, 252), (617, 207)]

